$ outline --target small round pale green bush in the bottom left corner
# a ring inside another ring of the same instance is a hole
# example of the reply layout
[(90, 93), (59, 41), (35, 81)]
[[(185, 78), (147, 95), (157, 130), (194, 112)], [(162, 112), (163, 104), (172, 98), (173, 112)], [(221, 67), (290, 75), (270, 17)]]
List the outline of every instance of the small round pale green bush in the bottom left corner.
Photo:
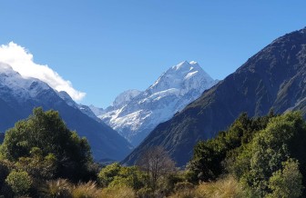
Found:
[(5, 183), (11, 187), (16, 196), (24, 196), (29, 193), (32, 179), (26, 172), (12, 171), (5, 179)]

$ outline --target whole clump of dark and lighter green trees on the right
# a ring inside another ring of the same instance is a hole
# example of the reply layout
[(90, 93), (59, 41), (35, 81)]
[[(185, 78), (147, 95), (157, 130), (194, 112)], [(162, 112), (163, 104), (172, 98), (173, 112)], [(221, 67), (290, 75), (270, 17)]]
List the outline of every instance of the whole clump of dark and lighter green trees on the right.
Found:
[(253, 196), (286, 197), (295, 192), (292, 196), (298, 197), (301, 175), (306, 177), (301, 168), (306, 165), (305, 141), (306, 123), (300, 113), (253, 119), (241, 114), (227, 132), (195, 146), (189, 180), (207, 182), (230, 173)]

